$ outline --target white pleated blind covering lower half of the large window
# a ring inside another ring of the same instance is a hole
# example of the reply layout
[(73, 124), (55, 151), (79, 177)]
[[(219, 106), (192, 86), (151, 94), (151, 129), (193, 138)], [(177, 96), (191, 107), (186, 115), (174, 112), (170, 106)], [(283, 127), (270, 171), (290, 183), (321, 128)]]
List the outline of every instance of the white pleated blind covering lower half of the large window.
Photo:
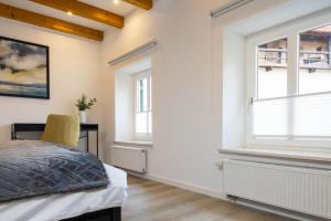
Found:
[(331, 92), (255, 101), (253, 135), (331, 137)]

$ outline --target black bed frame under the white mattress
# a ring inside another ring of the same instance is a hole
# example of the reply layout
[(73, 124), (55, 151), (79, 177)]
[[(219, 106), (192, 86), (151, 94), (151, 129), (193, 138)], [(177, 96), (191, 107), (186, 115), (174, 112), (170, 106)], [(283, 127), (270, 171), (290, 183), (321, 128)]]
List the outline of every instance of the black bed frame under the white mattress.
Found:
[(88, 212), (75, 218), (68, 218), (61, 221), (121, 221), (121, 208), (109, 208)]

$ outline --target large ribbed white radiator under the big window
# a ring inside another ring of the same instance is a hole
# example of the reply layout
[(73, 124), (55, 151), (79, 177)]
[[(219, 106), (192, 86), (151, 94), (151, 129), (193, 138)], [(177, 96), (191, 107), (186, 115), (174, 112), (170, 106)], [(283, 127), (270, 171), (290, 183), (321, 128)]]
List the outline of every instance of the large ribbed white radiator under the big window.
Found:
[(241, 160), (224, 162), (225, 193), (331, 219), (331, 171)]

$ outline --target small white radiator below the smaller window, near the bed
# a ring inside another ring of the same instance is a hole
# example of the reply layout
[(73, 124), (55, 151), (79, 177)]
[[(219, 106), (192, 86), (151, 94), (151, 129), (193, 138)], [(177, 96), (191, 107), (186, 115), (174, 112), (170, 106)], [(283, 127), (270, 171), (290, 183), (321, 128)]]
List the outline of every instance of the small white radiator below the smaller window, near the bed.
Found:
[(116, 167), (137, 172), (147, 172), (147, 150), (136, 147), (111, 146), (110, 160)]

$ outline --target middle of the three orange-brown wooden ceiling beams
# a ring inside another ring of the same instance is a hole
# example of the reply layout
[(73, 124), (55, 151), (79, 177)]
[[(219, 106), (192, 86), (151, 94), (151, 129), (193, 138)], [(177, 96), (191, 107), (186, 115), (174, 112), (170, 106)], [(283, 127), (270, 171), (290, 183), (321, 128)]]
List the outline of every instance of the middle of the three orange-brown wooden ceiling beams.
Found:
[(29, 0), (39, 4), (51, 7), (53, 9), (72, 12), (75, 15), (85, 19), (102, 22), (118, 29), (124, 28), (124, 17), (106, 11), (104, 9), (77, 1), (77, 0)]

